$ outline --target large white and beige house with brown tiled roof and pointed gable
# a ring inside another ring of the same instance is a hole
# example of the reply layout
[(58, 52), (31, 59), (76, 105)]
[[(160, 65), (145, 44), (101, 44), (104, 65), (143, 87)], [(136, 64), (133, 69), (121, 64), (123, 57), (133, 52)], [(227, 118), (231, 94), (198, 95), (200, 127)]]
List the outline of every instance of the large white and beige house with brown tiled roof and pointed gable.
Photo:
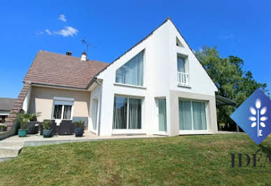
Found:
[(13, 111), (41, 121), (82, 119), (101, 136), (217, 133), (217, 87), (170, 18), (111, 64), (39, 51), (23, 82)]

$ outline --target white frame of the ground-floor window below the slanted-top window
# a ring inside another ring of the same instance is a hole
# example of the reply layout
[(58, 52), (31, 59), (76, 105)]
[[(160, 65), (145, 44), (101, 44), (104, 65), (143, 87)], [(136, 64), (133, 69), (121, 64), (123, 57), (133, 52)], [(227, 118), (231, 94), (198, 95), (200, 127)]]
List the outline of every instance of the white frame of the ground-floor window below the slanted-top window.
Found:
[[(115, 94), (115, 96), (121, 96), (127, 98), (127, 118), (126, 118), (126, 129), (113, 129), (114, 120), (112, 120), (112, 134), (144, 134), (143, 131), (143, 106), (144, 106), (144, 97), (141, 96), (126, 96), (121, 94)], [(141, 99), (141, 129), (128, 129), (129, 125), (129, 99)], [(114, 105), (114, 104), (113, 104)], [(113, 106), (113, 117), (114, 118), (114, 106)]]

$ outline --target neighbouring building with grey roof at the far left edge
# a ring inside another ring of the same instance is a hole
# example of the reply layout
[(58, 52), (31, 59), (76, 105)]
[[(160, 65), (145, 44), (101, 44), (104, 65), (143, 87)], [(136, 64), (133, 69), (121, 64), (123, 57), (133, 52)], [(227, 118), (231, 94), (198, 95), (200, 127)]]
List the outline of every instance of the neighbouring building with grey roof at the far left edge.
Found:
[(4, 124), (6, 122), (6, 117), (8, 117), (15, 101), (16, 99), (13, 98), (0, 97), (0, 124)]

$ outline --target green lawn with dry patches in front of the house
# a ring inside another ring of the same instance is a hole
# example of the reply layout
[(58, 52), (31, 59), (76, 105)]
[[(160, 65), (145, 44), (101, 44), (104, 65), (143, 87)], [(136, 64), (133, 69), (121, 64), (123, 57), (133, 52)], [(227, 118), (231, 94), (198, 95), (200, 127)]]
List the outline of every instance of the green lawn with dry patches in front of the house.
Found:
[(271, 154), (271, 138), (261, 145), (228, 134), (30, 147), (0, 163), (0, 185), (270, 185), (269, 162), (231, 167), (231, 153), (260, 148)]

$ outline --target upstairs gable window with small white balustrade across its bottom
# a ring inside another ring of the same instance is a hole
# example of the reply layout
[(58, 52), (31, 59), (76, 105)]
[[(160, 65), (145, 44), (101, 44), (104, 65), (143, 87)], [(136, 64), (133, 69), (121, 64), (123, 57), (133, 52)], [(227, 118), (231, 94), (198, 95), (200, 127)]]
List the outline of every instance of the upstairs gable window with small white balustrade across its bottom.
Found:
[(182, 86), (189, 86), (189, 73), (187, 57), (177, 56), (177, 83)]

